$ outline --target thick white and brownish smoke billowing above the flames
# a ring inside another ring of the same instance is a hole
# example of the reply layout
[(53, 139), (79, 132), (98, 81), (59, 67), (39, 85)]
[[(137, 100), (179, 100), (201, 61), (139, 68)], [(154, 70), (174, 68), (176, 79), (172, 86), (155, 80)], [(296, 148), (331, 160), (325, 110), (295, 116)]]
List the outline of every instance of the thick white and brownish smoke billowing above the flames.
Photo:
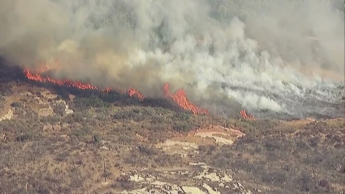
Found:
[(59, 59), (55, 77), (145, 96), (168, 82), (225, 114), (340, 114), (342, 0), (0, 0), (0, 25), (2, 57)]

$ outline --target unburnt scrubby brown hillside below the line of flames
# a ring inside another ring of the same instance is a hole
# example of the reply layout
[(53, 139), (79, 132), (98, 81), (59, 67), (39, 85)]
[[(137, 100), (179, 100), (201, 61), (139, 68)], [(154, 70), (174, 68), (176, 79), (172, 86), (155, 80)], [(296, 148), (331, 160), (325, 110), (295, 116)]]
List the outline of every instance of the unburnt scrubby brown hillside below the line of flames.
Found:
[(193, 114), (4, 66), (1, 90), (0, 193), (345, 191), (345, 118)]

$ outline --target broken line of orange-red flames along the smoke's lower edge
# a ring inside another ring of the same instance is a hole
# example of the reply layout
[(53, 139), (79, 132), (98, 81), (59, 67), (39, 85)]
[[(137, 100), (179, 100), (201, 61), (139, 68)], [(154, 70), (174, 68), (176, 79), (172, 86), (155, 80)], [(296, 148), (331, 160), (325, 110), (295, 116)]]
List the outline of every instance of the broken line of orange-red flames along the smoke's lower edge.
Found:
[[(73, 80), (69, 80), (69, 79), (54, 79), (54, 78), (50, 78), (50, 77), (42, 77), (40, 75), (43, 72), (46, 72), (46, 71), (51, 70), (51, 69), (56, 69), (59, 66), (60, 66), (59, 62), (56, 61), (55, 66), (46, 66), (46, 67), (42, 67), (40, 69), (33, 70), (33, 71), (30, 71), (29, 69), (24, 69), (24, 74), (29, 80), (32, 80), (32, 81), (53, 83), (53, 84), (59, 85), (59, 86), (74, 87), (74, 88), (78, 88), (78, 89), (82, 89), (82, 90), (85, 90), (85, 89), (98, 90), (99, 89), (97, 86), (93, 86), (91, 84), (81, 83), (81, 81), (73, 81)], [(137, 98), (139, 98), (139, 100), (145, 99), (145, 97), (142, 96), (142, 94), (140, 94), (140, 92), (134, 88), (122, 89), (122, 88), (118, 88), (118, 87), (114, 87), (114, 88), (107, 87), (107, 88), (102, 89), (101, 91), (102, 92), (118, 91), (118, 92), (128, 94), (128, 96), (130, 96), (130, 97), (137, 97)], [(194, 114), (209, 115), (209, 113), (206, 109), (197, 107), (188, 101), (188, 99), (186, 97), (186, 91), (184, 89), (179, 89), (176, 91), (175, 94), (171, 94), (169, 91), (169, 84), (166, 83), (164, 85), (164, 93), (165, 93), (167, 98), (172, 99), (176, 104), (178, 104), (180, 107), (182, 107), (185, 110), (190, 110)], [(248, 116), (248, 114), (246, 113), (245, 110), (241, 110), (240, 114), (245, 119), (255, 119), (253, 116)]]

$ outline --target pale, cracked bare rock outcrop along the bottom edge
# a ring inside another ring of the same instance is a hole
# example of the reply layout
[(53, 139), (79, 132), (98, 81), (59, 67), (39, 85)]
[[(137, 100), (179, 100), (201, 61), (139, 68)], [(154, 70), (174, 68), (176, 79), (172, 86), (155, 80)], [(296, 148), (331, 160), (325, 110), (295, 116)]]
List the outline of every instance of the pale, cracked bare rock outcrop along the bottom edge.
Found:
[[(142, 169), (122, 173), (127, 181), (136, 182), (137, 189), (125, 190), (119, 194), (146, 194), (146, 193), (188, 193), (188, 194), (221, 194), (224, 191), (234, 193), (254, 194), (258, 190), (246, 189), (242, 183), (217, 168), (204, 163), (190, 163), (190, 171), (158, 171)], [(152, 176), (154, 174), (155, 176)], [(184, 184), (174, 184), (184, 180)], [(187, 182), (187, 183), (186, 183)]]

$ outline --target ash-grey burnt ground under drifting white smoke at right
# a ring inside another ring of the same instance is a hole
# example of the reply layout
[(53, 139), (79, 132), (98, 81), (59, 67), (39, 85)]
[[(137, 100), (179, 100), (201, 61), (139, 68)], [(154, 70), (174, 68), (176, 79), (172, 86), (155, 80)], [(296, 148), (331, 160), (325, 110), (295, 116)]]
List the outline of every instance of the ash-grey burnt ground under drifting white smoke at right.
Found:
[[(290, 85), (290, 88), (282, 89), (272, 87), (270, 89), (252, 89), (249, 87), (238, 87), (231, 84), (221, 84), (224, 92), (237, 91), (239, 93), (251, 93), (258, 98), (266, 96), (274, 100), (282, 107), (280, 111), (269, 109), (255, 109), (247, 107), (249, 113), (257, 118), (264, 119), (301, 119), (312, 118), (334, 118), (345, 116), (345, 87), (343, 83), (319, 83), (313, 88)], [(233, 102), (224, 106), (221, 103), (216, 107), (220, 114), (233, 115), (229, 107), (243, 107)]]

